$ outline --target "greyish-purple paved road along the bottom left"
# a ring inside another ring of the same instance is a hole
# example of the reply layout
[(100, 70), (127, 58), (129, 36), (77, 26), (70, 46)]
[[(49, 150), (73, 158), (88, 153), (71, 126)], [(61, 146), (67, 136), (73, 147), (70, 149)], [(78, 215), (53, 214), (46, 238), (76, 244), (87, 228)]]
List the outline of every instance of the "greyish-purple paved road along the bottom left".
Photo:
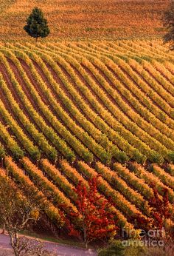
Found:
[[(49, 243), (44, 242), (46, 249), (50, 251), (55, 251), (58, 253), (58, 256), (97, 256), (97, 253), (92, 251), (91, 249), (79, 249), (71, 246), (63, 246), (58, 243)], [(11, 253), (11, 246), (10, 246), (10, 238), (8, 235), (0, 235), (0, 255), (1, 252), (7, 253), (8, 256), (13, 255)]]

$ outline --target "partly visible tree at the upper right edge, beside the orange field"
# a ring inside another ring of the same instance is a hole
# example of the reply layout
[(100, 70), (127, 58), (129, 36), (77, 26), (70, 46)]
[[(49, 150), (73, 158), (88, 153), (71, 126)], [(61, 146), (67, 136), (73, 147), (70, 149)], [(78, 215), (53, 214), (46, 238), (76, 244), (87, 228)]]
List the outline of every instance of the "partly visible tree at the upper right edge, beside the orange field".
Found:
[(162, 18), (167, 34), (164, 36), (164, 43), (170, 43), (170, 50), (174, 50), (174, 1), (171, 1), (168, 10)]

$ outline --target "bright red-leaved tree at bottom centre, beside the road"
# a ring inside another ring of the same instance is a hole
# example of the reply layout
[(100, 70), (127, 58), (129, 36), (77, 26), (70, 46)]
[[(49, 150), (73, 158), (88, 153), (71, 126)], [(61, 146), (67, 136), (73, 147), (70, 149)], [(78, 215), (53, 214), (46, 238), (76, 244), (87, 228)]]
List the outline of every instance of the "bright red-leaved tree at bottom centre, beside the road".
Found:
[[(88, 182), (88, 189), (83, 182), (78, 183), (77, 209), (80, 218), (80, 235), (83, 236), (86, 248), (93, 240), (112, 238), (116, 235), (115, 213), (111, 203), (97, 192), (97, 178)], [(77, 218), (77, 215), (75, 216)]]

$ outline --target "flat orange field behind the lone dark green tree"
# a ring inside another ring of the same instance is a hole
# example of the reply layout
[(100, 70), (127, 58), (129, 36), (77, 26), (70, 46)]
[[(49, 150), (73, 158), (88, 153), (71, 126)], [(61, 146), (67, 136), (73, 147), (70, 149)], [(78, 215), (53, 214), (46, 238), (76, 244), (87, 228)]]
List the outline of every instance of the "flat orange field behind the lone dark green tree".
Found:
[(34, 7), (46, 13), (58, 38), (148, 38), (164, 34), (161, 15), (169, 0), (0, 0), (1, 41), (24, 41), (24, 21)]

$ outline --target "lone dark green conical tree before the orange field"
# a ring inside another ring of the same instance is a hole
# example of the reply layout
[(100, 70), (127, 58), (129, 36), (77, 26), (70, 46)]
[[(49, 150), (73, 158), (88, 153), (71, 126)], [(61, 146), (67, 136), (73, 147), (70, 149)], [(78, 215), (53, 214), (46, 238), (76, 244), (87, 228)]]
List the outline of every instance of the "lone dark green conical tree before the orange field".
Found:
[(44, 18), (44, 13), (38, 7), (32, 10), (32, 13), (27, 18), (27, 25), (24, 26), (24, 30), (35, 38), (35, 42), (38, 38), (44, 38), (49, 35), (49, 27), (46, 18)]

